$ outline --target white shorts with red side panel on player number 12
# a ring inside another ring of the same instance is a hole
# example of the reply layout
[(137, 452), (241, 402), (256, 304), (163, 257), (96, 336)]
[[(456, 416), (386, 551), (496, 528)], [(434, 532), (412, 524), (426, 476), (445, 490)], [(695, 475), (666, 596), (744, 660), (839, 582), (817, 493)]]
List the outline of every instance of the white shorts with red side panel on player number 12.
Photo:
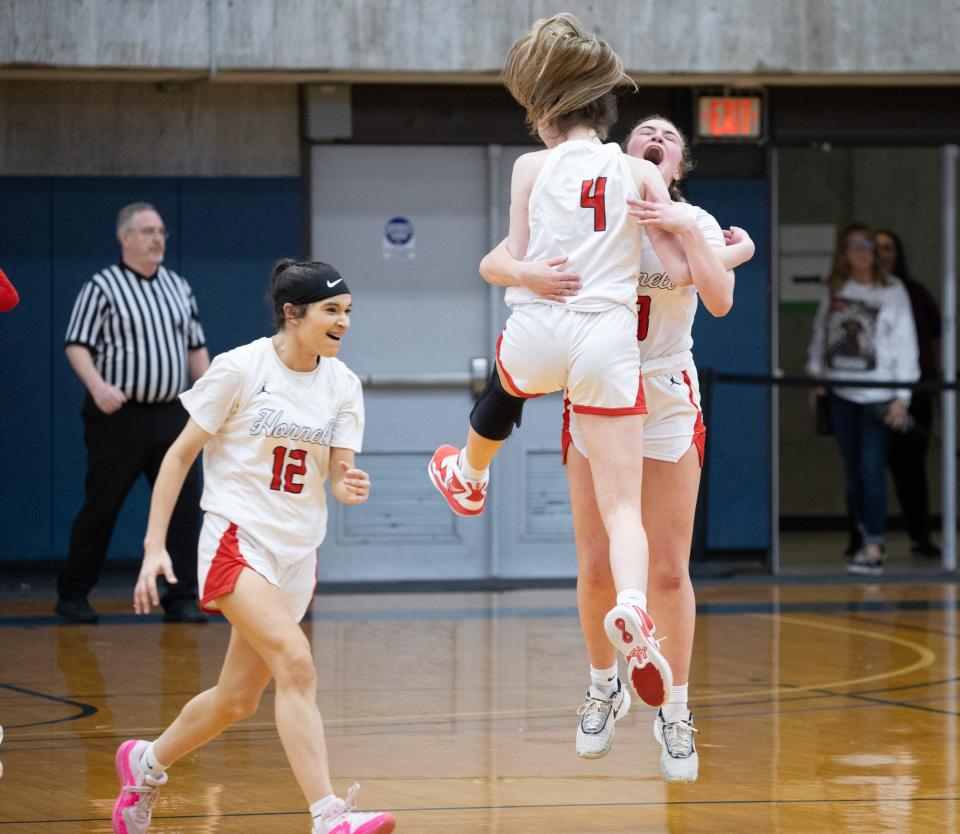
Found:
[(204, 611), (219, 611), (217, 600), (233, 592), (244, 568), (276, 585), (293, 618), (297, 622), (303, 619), (317, 587), (317, 554), (296, 562), (281, 562), (236, 524), (223, 516), (205, 513), (197, 550), (200, 607)]

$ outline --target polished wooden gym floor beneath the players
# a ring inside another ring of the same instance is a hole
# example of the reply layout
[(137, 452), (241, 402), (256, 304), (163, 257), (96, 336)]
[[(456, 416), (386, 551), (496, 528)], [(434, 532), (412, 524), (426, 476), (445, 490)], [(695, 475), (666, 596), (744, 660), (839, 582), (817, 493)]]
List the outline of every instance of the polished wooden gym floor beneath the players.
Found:
[[(334, 784), (399, 832), (956, 832), (957, 586), (698, 588), (700, 779), (664, 783), (653, 712), (574, 752), (586, 661), (572, 590), (323, 596), (305, 628)], [(113, 754), (217, 675), (222, 621), (97, 626), (0, 601), (0, 834), (110, 832)], [(309, 832), (260, 712), (179, 762), (151, 834)]]

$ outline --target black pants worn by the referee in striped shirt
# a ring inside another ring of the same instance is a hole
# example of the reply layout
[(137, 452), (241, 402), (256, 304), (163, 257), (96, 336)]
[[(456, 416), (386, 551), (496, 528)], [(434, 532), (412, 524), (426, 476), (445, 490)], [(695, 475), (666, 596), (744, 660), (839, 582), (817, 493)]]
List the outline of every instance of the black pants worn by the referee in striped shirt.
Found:
[[(187, 422), (179, 401), (155, 405), (127, 402), (119, 411), (104, 414), (88, 396), (81, 415), (87, 475), (83, 506), (70, 529), (67, 563), (57, 578), (61, 599), (86, 598), (97, 584), (117, 516), (131, 487), (141, 474), (153, 487), (163, 456)], [(146, 532), (146, 518), (143, 529)], [(165, 609), (177, 601), (197, 598), (199, 536), (200, 475), (194, 463), (167, 533), (167, 550), (178, 581), (167, 585), (160, 580), (160, 602)]]

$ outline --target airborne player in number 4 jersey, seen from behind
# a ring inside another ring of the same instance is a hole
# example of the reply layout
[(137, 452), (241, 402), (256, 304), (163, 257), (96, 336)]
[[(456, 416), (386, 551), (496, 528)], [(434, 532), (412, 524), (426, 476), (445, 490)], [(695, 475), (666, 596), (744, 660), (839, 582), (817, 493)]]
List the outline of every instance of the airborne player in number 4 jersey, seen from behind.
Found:
[[(628, 201), (666, 201), (667, 189), (652, 163), (603, 144), (616, 121), (612, 91), (632, 82), (617, 55), (576, 18), (537, 21), (514, 44), (503, 75), (547, 146), (514, 166), (507, 251), (525, 261), (566, 261), (584, 277), (566, 299), (510, 286), (512, 313), (497, 344), (496, 373), (471, 414), (466, 447), (441, 446), (429, 474), (454, 512), (479, 514), (489, 464), (519, 422), (523, 400), (566, 389), (596, 462), (609, 566), (623, 607), (616, 618), (637, 664), (635, 691), (659, 705), (671, 676), (645, 610), (647, 547), (635, 464), (643, 456), (646, 410), (635, 311), (643, 235)], [(683, 257), (670, 234), (654, 245)]]

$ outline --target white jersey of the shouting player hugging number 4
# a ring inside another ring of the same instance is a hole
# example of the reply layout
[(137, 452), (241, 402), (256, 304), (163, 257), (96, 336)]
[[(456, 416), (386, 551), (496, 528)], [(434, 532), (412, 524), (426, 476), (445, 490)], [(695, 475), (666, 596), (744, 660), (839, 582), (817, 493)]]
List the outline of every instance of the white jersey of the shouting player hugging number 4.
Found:
[[(711, 214), (699, 206), (679, 203), (696, 217), (710, 246), (723, 246), (723, 231)], [(644, 236), (637, 287), (637, 340), (645, 374), (692, 360), (693, 319), (697, 313), (694, 286), (678, 287)]]

